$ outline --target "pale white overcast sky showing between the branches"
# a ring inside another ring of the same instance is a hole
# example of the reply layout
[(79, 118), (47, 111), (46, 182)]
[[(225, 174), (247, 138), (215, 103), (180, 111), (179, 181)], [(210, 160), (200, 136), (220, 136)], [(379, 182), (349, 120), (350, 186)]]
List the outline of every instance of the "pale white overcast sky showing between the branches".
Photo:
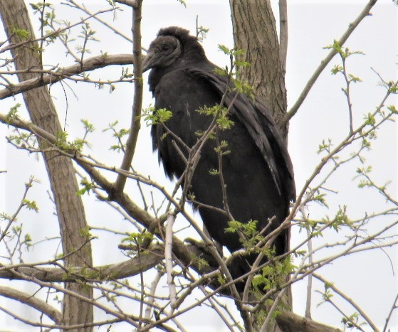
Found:
[[(56, 2), (56, 1), (54, 1)], [(277, 4), (277, 1), (272, 1)], [(318, 66), (320, 60), (327, 54), (323, 46), (332, 43), (333, 39), (339, 38), (347, 28), (348, 23), (353, 21), (367, 1), (289, 1), (289, 48), (288, 66), (286, 74), (286, 85), (288, 88), (288, 104), (291, 106), (300, 94), (308, 77)], [(85, 1), (85, 4), (93, 1)], [(228, 63), (220, 52), (217, 52), (217, 45), (224, 44), (232, 46), (231, 22), (228, 1), (193, 1), (187, 0), (187, 9), (177, 4), (177, 0), (146, 0), (143, 7), (142, 18), (142, 43), (143, 46), (149, 45), (155, 37), (159, 28), (170, 25), (178, 25), (189, 28), (194, 32), (195, 19), (199, 16), (199, 24), (209, 28), (210, 31), (204, 41), (204, 48), (209, 59), (218, 65)], [(93, 7), (95, 8), (95, 6)], [(377, 87), (378, 77), (370, 69), (374, 68), (386, 80), (397, 80), (397, 7), (392, 1), (379, 1), (379, 4), (372, 10), (372, 16), (365, 20), (347, 41), (347, 47), (352, 50), (362, 50), (366, 55), (358, 55), (349, 61), (349, 70), (362, 78), (364, 82), (352, 87), (352, 102), (354, 109), (355, 123), (362, 120), (362, 114), (375, 109), (381, 100), (384, 91)], [(95, 11), (95, 9), (93, 9)], [(75, 11), (62, 9), (58, 17), (68, 18), (70, 21), (78, 19)], [(35, 18), (36, 20), (37, 18)], [(130, 33), (131, 23), (130, 11), (125, 11), (117, 15), (115, 25), (119, 26), (126, 34)], [(36, 21), (35, 21), (36, 22)], [(93, 28), (98, 26), (93, 23)], [(98, 38), (101, 43), (91, 45), (92, 55), (99, 53), (99, 50), (108, 53), (129, 53), (131, 45), (119, 38), (112, 36), (112, 33), (100, 32)], [(0, 40), (4, 40), (4, 35), (0, 33)], [(48, 50), (46, 60), (51, 64), (65, 63), (63, 53), (57, 48)], [(332, 61), (332, 65), (337, 63), (337, 59)], [(330, 68), (330, 65), (329, 65)], [(110, 68), (104, 70), (105, 73), (120, 73), (120, 68)], [(266, 77), (265, 77), (266, 79)], [(298, 191), (303, 186), (305, 179), (312, 173), (313, 168), (320, 159), (316, 154), (318, 144), (322, 139), (332, 138), (337, 142), (345, 135), (348, 127), (348, 114), (345, 105), (342, 87), (342, 77), (330, 75), (330, 69), (325, 70), (317, 84), (308, 95), (308, 99), (301, 107), (299, 113), (290, 122), (289, 150), (295, 167), (296, 186)], [(153, 103), (150, 93), (145, 93), (144, 105)], [(107, 124), (119, 119), (122, 127), (130, 125), (130, 112), (132, 102), (132, 85), (118, 87), (111, 95), (108, 93), (98, 93), (91, 87), (79, 85), (78, 100), (73, 96), (68, 87), (65, 87), (68, 95), (68, 121), (67, 130), (70, 136), (81, 136), (83, 133), (80, 126), (80, 119), (90, 119), (98, 128), (93, 134), (92, 151), (98, 159), (108, 161), (118, 165), (119, 156), (115, 156), (108, 150), (110, 144), (109, 134), (101, 132)], [(83, 93), (82, 93), (83, 92)], [(51, 87), (51, 93), (56, 97), (58, 112), (61, 122), (66, 117), (66, 98), (61, 85)], [(17, 97), (16, 101), (20, 98)], [(1, 113), (8, 112), (9, 107), (14, 105), (14, 100), (1, 101)], [(389, 102), (392, 103), (392, 100)], [(395, 99), (397, 104), (397, 99)], [(6, 127), (0, 126), (3, 134)], [(104, 137), (107, 141), (104, 141)], [(376, 141), (374, 151), (367, 154), (367, 162), (375, 168), (376, 178), (381, 181), (392, 180), (390, 190), (397, 197), (397, 126), (389, 126), (380, 132), (379, 139)], [(24, 185), (32, 174), (40, 178), (42, 184), (37, 184), (32, 188), (30, 197), (38, 200), (41, 212), (38, 215), (33, 213), (22, 213), (19, 220), (24, 220), (23, 227), (26, 232), (31, 233), (33, 238), (55, 237), (58, 235), (58, 227), (54, 223), (52, 216), (53, 207), (46, 200), (48, 190), (46, 173), (41, 161), (36, 162), (34, 156), (27, 156), (26, 153), (16, 151), (7, 145), (4, 139), (0, 141), (0, 150), (6, 151), (6, 159), (0, 160), (0, 170), (7, 169), (6, 176), (0, 174), (0, 211), (8, 213), (14, 211), (19, 203), (18, 198), (23, 193)], [(144, 174), (151, 174), (152, 178), (159, 182), (164, 181), (161, 168), (157, 164), (157, 156), (151, 153), (149, 129), (142, 126), (140, 139), (137, 144), (134, 166)], [(377, 210), (383, 202), (375, 201), (371, 193), (364, 193), (355, 189), (356, 184), (351, 182), (355, 167), (347, 167), (345, 171), (334, 178), (331, 186), (334, 189), (340, 188), (338, 195), (331, 195), (331, 211), (321, 210), (313, 207), (310, 211), (312, 216), (333, 215), (332, 211), (338, 205), (347, 204), (349, 212), (357, 217), (363, 215), (363, 211)], [(1, 190), (1, 189), (0, 189)], [(132, 190), (132, 189), (131, 189)], [(108, 208), (103, 208), (102, 204), (95, 202), (93, 195), (85, 198), (86, 213), (90, 225), (97, 227), (107, 226), (117, 230), (129, 230), (129, 225), (120, 217), (115, 217)], [(177, 226), (178, 228), (178, 226)], [(45, 235), (43, 235), (45, 233)], [(117, 250), (120, 237), (105, 237), (103, 232), (96, 234), (100, 239), (93, 242), (95, 264), (110, 264), (123, 260), (123, 256)], [(340, 234), (337, 234), (339, 236)], [(292, 243), (297, 243), (302, 235), (298, 230), (293, 230)], [(330, 234), (330, 237), (335, 235)], [(329, 237), (323, 237), (319, 243), (331, 241)], [(316, 243), (315, 243), (316, 244)], [(31, 261), (51, 258), (53, 250), (58, 242), (46, 241), (38, 244), (35, 251), (26, 255), (26, 260)], [(49, 256), (48, 256), (49, 255)], [(357, 299), (357, 304), (363, 307), (370, 314), (378, 326), (382, 326), (386, 318), (386, 312), (392, 305), (392, 300), (397, 294), (397, 255), (394, 250), (389, 251), (389, 257), (394, 264), (392, 272), (391, 262), (387, 255), (381, 251), (367, 252), (345, 259), (340, 259), (330, 267), (320, 270), (320, 273), (327, 279), (333, 280), (337, 288), (347, 291), (353, 299)], [(10, 282), (1, 281), (1, 284), (10, 286)], [(11, 283), (11, 286), (14, 282)], [(20, 283), (21, 290), (26, 290), (26, 284)], [(322, 290), (319, 284), (315, 283), (315, 289)], [(305, 304), (305, 284), (300, 282), (293, 287), (293, 299), (295, 312), (303, 314)], [(330, 306), (324, 304), (319, 308), (316, 304), (320, 301), (319, 296), (315, 296), (313, 305), (313, 318), (332, 326), (340, 326), (340, 316), (332, 311)], [(4, 299), (0, 299), (0, 305), (4, 305)], [(8, 306), (9, 304), (7, 304)], [(25, 309), (24, 309), (25, 310)], [(182, 322), (187, 324), (188, 331), (221, 331), (217, 324), (216, 317), (208, 314), (204, 309), (195, 311), (194, 316), (187, 316)], [(21, 314), (23, 314), (21, 312)], [(206, 319), (203, 319), (203, 314)], [(397, 316), (397, 315), (396, 315)], [(11, 331), (32, 331), (16, 323), (11, 318), (6, 318), (0, 312), (0, 322), (6, 324), (1, 329)], [(189, 325), (191, 324), (191, 325)], [(395, 319), (395, 328), (398, 328)], [(103, 331), (100, 329), (99, 331)], [(122, 331), (117, 330), (115, 331)], [(392, 330), (393, 331), (393, 330)]]

